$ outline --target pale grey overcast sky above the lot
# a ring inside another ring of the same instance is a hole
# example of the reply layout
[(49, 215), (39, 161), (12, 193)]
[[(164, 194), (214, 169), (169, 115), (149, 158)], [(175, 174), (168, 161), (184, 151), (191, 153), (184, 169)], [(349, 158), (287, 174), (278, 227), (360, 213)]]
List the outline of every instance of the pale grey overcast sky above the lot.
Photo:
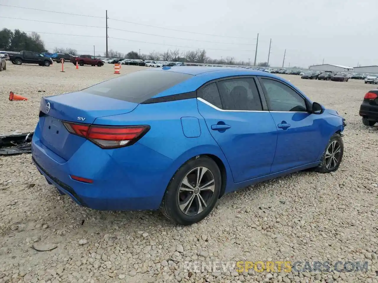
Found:
[(108, 49), (122, 53), (200, 48), (211, 58), (252, 65), (259, 34), (257, 63), (268, 60), (271, 39), (271, 66), (282, 66), (285, 49), (285, 67), (307, 68), (323, 60), (378, 65), (376, 0), (0, 0), (0, 29), (36, 31), (49, 51), (63, 47), (93, 54), (95, 45), (95, 54), (103, 55), (106, 10)]

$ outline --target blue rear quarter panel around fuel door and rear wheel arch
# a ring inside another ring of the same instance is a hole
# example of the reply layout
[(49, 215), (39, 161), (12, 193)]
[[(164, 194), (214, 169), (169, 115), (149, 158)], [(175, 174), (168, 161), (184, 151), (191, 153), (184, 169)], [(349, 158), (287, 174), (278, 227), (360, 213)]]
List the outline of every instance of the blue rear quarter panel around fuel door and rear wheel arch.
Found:
[[(200, 126), (198, 137), (188, 138), (184, 135), (181, 117), (198, 119)], [(230, 176), (230, 178), (227, 178), (226, 187), (233, 183), (228, 162), (209, 133), (203, 117), (198, 112), (197, 98), (140, 104), (130, 113), (97, 118), (94, 123), (103, 125), (149, 125), (151, 127), (137, 144), (146, 146), (172, 160), (170, 164), (156, 164), (156, 170), (161, 172), (160, 183), (162, 187), (159, 190), (163, 190), (163, 193), (170, 179), (181, 165), (202, 154), (218, 157), (225, 166), (226, 175)], [(116, 156), (115, 158), (117, 159)], [(118, 160), (118, 162), (122, 163), (123, 161)], [(161, 166), (164, 166), (164, 168), (161, 168)]]

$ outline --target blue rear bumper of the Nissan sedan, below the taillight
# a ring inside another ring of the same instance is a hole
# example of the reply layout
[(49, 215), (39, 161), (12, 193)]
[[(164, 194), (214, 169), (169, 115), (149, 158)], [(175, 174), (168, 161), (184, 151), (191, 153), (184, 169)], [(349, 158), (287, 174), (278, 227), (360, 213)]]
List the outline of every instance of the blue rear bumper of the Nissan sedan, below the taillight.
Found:
[[(43, 145), (39, 136), (37, 126), (32, 140), (33, 163), (49, 183), (77, 204), (97, 210), (159, 208), (168, 184), (161, 176), (172, 164), (170, 158), (138, 143), (103, 150), (85, 141), (65, 161)], [(118, 153), (121, 156), (114, 158)], [(73, 180), (71, 175), (91, 179), (93, 183)]]

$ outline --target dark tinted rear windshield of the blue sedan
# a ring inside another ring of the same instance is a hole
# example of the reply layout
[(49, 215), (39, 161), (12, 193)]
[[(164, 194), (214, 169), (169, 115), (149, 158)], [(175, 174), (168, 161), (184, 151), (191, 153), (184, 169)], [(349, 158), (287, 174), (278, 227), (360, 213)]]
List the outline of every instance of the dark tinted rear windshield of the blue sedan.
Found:
[(139, 71), (112, 78), (85, 88), (83, 91), (128, 102), (142, 103), (191, 77), (193, 75), (176, 72)]

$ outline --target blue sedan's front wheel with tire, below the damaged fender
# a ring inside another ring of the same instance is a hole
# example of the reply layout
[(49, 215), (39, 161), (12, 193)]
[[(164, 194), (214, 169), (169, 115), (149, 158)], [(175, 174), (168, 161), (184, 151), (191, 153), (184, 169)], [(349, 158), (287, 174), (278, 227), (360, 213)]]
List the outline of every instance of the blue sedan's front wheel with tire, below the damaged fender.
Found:
[(341, 135), (334, 134), (328, 141), (318, 167), (315, 169), (320, 173), (333, 172), (339, 169), (342, 155), (344, 154), (344, 143)]

